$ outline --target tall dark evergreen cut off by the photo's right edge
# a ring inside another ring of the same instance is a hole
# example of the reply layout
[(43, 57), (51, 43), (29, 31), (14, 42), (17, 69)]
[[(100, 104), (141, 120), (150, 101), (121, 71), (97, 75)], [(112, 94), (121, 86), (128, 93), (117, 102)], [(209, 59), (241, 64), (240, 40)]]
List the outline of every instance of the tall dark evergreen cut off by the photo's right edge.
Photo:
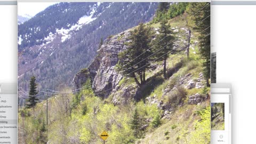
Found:
[(200, 42), (198, 44), (199, 51), (204, 59), (204, 77), (206, 80), (206, 85), (210, 86), (210, 76), (211, 76), (211, 29), (209, 28), (211, 24), (211, 4), (207, 3), (189, 3), (188, 13), (193, 15), (192, 19), (195, 21), (196, 29), (200, 33), (198, 37)]

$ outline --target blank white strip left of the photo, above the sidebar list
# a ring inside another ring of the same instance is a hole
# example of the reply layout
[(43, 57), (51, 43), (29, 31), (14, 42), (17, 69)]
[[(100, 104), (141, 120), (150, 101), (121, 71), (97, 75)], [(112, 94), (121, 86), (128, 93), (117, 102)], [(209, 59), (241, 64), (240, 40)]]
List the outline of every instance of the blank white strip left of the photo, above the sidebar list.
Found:
[(0, 5), (0, 83), (17, 83), (17, 5)]

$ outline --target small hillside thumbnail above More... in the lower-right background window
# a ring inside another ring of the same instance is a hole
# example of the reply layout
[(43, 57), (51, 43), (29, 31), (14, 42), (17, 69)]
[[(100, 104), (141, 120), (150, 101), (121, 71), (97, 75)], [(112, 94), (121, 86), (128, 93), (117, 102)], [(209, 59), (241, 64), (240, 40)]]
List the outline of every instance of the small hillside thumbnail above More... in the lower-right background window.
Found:
[(212, 130), (225, 130), (225, 103), (211, 105)]

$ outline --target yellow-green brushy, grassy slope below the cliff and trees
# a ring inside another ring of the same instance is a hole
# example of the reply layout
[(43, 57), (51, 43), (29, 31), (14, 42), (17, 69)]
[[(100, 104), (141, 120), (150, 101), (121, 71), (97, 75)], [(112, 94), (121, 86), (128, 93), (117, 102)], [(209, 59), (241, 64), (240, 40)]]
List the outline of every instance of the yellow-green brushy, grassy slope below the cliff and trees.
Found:
[[(172, 55), (168, 62), (169, 69), (182, 57), (186, 59), (180, 54)], [(196, 60), (183, 62), (184, 66), (177, 73), (154, 87), (153, 92), (145, 97), (156, 95), (157, 99), (168, 101), (167, 97), (162, 97), (162, 93), (169, 83), (173, 83), (175, 77), (189, 72), (196, 77), (202, 69), (200, 62)], [(158, 73), (161, 70), (158, 69)], [(156, 74), (148, 73), (147, 78), (157, 75), (156, 71), (154, 73)], [(125, 82), (121, 81), (120, 84), (135, 85), (129, 79), (123, 81)], [(198, 92), (202, 92), (202, 89), (187, 91), (188, 95)], [(77, 95), (55, 95), (49, 99), (48, 126), (45, 122), (46, 101), (38, 103), (35, 110), (20, 109), (19, 140), (23, 141), (25, 137), (27, 143), (45, 143), (48, 140), (50, 143), (101, 143), (99, 134), (103, 130), (109, 134), (107, 143), (205, 143), (210, 140), (209, 100), (201, 105), (188, 105), (186, 98), (182, 105), (178, 104), (177, 110), (172, 111), (169, 118), (161, 119), (159, 127), (154, 127), (151, 121), (138, 140), (133, 137), (130, 127), (134, 108), (138, 109), (142, 119), (154, 119), (156, 115), (162, 115), (163, 111), (156, 104), (144, 103), (143, 100), (138, 103), (130, 100), (125, 106), (114, 106), (109, 99), (96, 97), (91, 89), (83, 90)], [(23, 114), (24, 111), (26, 114)]]

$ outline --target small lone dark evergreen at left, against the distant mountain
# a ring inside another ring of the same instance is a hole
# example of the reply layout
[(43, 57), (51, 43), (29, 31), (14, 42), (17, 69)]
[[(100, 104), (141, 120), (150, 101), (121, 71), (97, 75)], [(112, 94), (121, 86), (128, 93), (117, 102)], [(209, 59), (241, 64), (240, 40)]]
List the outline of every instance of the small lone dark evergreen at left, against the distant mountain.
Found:
[(36, 77), (32, 76), (30, 78), (30, 90), (29, 90), (29, 95), (28, 95), (28, 99), (27, 99), (27, 103), (26, 103), (26, 107), (27, 108), (34, 108), (36, 106), (36, 103), (38, 101), (38, 99), (36, 98), (36, 94), (38, 93), (36, 88), (37, 88), (37, 84), (36, 84)]

